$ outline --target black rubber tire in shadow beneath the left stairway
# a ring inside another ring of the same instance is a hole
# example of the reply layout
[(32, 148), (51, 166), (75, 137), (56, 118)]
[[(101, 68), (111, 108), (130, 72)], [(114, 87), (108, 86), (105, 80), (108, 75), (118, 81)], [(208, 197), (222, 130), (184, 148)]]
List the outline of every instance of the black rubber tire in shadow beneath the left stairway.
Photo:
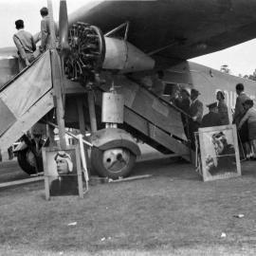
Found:
[[(27, 161), (27, 151), (28, 148), (22, 151), (18, 151), (17, 152), (17, 160), (18, 160), (18, 164), (21, 167), (21, 169), (31, 175), (31, 174), (36, 174), (36, 169), (34, 166), (32, 166), (28, 161)], [(39, 157), (39, 162), (40, 162), (40, 166), (39, 166), (39, 170), (38, 172), (43, 172), (43, 158)]]

